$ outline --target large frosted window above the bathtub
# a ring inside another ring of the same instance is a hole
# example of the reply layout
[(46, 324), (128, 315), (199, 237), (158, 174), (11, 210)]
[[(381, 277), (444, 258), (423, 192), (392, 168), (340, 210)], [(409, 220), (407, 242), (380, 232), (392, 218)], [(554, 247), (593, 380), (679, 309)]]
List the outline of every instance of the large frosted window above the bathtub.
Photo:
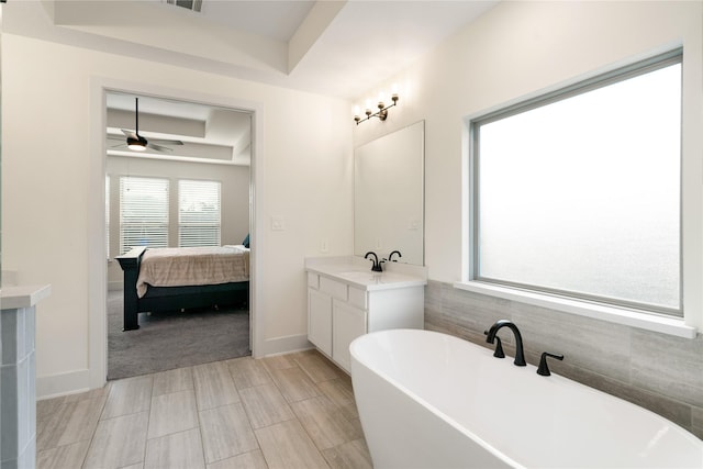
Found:
[(681, 315), (681, 52), (471, 122), (471, 277)]

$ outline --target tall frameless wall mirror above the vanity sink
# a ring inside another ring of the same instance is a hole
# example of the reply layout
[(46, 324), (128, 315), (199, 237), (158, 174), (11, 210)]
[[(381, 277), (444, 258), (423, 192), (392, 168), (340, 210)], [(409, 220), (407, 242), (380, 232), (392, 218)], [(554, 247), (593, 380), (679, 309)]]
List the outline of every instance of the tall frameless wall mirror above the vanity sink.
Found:
[(354, 254), (424, 265), (425, 123), (354, 150)]

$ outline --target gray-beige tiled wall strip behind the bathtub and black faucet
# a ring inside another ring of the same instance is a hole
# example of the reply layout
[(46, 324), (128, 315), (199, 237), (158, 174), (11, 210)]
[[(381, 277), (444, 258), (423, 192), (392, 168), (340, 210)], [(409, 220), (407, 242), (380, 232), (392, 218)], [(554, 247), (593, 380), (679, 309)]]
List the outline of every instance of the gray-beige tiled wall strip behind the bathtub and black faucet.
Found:
[[(483, 331), (501, 319), (520, 327), (529, 364), (543, 351), (563, 354), (563, 361), (549, 362), (554, 372), (649, 409), (703, 439), (703, 335), (679, 338), (438, 281), (425, 288), (427, 330), (490, 346)], [(499, 335), (514, 356), (512, 334)]]

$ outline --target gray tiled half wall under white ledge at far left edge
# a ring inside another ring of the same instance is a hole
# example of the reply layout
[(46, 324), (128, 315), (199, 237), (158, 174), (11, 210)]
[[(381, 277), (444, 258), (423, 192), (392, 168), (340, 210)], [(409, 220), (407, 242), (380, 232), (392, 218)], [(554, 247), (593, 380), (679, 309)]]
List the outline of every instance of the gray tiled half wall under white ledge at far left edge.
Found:
[(34, 306), (2, 310), (2, 469), (35, 467), (34, 316)]

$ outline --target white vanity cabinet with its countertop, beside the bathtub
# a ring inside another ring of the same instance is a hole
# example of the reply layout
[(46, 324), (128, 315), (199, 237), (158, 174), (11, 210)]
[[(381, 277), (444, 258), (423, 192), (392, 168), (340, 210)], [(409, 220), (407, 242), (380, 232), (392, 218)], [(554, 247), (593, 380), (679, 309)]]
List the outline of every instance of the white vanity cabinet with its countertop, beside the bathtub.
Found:
[[(308, 272), (308, 339), (347, 372), (352, 366), (349, 344), (358, 336), (424, 326), (423, 279), (378, 282), (381, 277), (371, 272), (356, 277), (349, 280), (344, 275)], [(402, 280), (390, 273), (383, 279)]]

